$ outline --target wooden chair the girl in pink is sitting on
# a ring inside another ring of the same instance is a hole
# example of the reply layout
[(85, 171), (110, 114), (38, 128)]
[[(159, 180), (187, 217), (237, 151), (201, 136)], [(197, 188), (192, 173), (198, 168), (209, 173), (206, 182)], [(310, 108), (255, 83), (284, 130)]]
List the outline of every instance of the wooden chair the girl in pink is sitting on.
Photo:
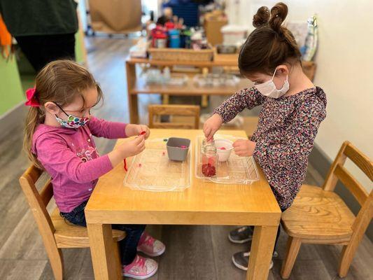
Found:
[[(40, 193), (35, 186), (42, 173), (43, 170), (35, 166), (29, 167), (20, 177), (20, 185), (43, 238), (45, 251), (47, 251), (55, 279), (61, 280), (63, 279), (61, 248), (90, 247), (90, 240), (88, 239), (87, 228), (66, 223), (64, 218), (59, 216), (57, 208), (52, 212), (52, 215), (48, 213), (46, 207), (53, 196), (52, 183), (48, 180)], [(125, 232), (113, 230), (113, 241), (115, 243), (123, 238), (125, 238)], [(118, 246), (114, 247), (117, 249), (115, 255), (118, 265), (120, 265)]]

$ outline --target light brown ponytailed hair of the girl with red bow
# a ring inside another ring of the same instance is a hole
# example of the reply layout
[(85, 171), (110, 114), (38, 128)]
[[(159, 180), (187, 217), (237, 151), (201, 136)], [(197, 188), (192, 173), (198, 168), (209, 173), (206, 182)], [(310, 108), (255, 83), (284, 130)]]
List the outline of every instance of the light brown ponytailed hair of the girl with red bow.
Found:
[(38, 168), (43, 166), (32, 153), (32, 137), (36, 127), (44, 122), (46, 102), (55, 102), (59, 106), (71, 104), (76, 96), (80, 96), (85, 103), (83, 91), (96, 87), (99, 102), (102, 99), (102, 91), (94, 80), (92, 74), (83, 66), (71, 60), (56, 60), (50, 62), (41, 69), (35, 79), (36, 99), (40, 106), (30, 107), (24, 129), (24, 150), (29, 160)]

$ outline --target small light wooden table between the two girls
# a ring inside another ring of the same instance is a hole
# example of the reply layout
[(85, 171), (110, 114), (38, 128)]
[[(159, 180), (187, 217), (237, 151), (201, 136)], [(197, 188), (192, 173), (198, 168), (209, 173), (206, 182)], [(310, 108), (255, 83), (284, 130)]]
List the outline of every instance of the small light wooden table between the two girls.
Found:
[[(246, 137), (243, 130), (219, 131), (218, 134)], [(191, 140), (192, 182), (183, 192), (131, 190), (123, 185), (123, 165), (99, 179), (85, 208), (95, 279), (122, 279), (111, 224), (254, 225), (246, 279), (267, 279), (281, 210), (265, 175), (257, 165), (260, 180), (251, 185), (218, 184), (197, 179), (194, 149), (197, 135), (202, 135), (202, 130), (150, 132), (150, 139), (183, 137)], [(119, 140), (118, 144), (123, 141), (127, 139)], [(128, 159), (128, 162), (132, 160)], [(230, 255), (222, 258), (228, 261)]]

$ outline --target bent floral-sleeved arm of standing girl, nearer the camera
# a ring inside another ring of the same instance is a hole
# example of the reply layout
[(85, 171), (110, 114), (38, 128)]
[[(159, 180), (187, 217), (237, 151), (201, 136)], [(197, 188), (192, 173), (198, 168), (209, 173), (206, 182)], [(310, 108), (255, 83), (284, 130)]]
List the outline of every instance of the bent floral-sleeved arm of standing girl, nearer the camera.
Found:
[(284, 133), (281, 143), (274, 144), (271, 139), (256, 142), (253, 152), (255, 160), (262, 168), (269, 162), (270, 165), (283, 166), (307, 162), (318, 127), (325, 116), (325, 104), (320, 100), (302, 104)]

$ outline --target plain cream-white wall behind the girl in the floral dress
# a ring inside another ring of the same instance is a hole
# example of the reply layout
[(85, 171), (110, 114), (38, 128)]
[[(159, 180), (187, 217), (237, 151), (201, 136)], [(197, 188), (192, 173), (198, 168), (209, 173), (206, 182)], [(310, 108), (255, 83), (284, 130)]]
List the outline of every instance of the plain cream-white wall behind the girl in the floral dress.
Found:
[[(253, 18), (259, 6), (277, 1), (251, 0)], [(285, 0), (288, 20), (318, 15), (319, 43), (315, 85), (328, 97), (328, 116), (316, 144), (332, 160), (344, 140), (373, 159), (373, 1)], [(348, 162), (346, 167), (372, 190), (372, 182)]]

